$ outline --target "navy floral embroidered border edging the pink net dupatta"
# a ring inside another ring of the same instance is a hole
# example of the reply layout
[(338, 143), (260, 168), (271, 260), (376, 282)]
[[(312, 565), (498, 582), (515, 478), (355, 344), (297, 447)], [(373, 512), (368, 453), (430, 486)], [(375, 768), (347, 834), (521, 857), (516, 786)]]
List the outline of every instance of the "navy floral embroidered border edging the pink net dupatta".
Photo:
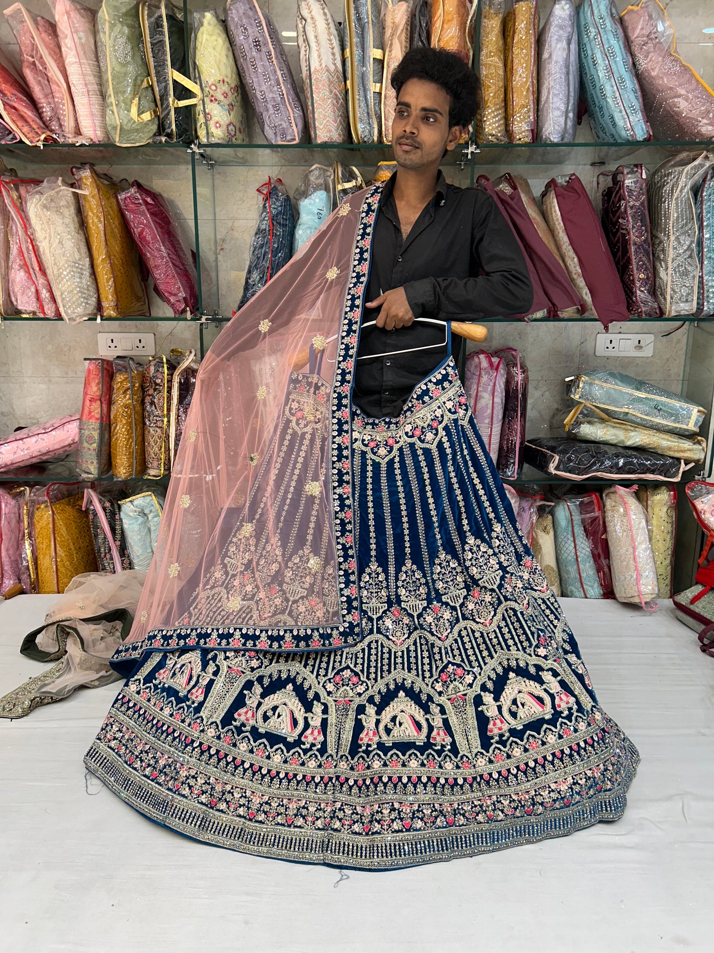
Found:
[[(384, 183), (374, 185), (367, 192), (360, 209), (332, 385), (330, 485), (342, 620), (333, 625), (209, 625), (152, 629), (145, 639), (124, 643), (117, 648), (111, 664), (122, 675), (128, 676), (134, 667), (127, 665), (129, 659), (140, 659), (145, 652), (151, 651), (197, 647), (226, 651), (255, 649), (262, 652), (319, 652), (354, 645), (362, 640), (357, 551), (352, 517), (354, 491), (350, 404), (362, 305), (369, 276), (372, 235), (383, 188)], [(349, 491), (347, 493), (346, 488)], [(350, 594), (350, 589), (354, 595)]]

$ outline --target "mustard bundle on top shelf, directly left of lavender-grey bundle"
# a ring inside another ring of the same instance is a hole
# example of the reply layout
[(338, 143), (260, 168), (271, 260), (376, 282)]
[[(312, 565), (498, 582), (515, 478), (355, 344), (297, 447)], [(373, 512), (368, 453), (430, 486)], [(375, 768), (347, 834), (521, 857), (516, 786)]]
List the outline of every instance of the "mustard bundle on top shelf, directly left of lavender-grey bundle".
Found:
[(538, 103), (538, 0), (513, 0), (504, 22), (506, 132), (511, 142), (535, 142)]

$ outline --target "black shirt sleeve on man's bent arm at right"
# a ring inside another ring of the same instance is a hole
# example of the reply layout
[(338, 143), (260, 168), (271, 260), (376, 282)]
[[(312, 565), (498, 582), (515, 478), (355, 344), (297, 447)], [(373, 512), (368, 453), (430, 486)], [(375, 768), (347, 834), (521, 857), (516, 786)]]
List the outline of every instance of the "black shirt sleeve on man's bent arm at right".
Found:
[(524, 254), (496, 202), (478, 191), (471, 252), (476, 268), (484, 274), (407, 281), (404, 290), (414, 317), (434, 314), (443, 320), (478, 321), (527, 313), (533, 303), (533, 286)]

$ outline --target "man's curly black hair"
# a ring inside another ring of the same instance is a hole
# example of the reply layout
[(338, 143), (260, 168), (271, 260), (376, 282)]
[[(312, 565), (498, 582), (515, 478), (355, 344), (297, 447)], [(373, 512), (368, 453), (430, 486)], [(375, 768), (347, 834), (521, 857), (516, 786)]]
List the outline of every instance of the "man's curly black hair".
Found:
[(390, 77), (397, 96), (409, 79), (426, 79), (448, 93), (451, 99), (449, 128), (466, 127), (472, 122), (479, 104), (479, 80), (456, 53), (433, 50), (431, 47), (409, 50)]

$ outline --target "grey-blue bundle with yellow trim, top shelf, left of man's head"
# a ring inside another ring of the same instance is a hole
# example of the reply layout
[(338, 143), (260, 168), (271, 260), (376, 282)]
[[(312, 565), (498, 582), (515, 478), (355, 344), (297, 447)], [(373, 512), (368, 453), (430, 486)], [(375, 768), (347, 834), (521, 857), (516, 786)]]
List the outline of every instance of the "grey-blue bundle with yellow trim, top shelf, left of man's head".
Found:
[(385, 52), (378, 0), (345, 0), (343, 45), (352, 139), (380, 142)]

